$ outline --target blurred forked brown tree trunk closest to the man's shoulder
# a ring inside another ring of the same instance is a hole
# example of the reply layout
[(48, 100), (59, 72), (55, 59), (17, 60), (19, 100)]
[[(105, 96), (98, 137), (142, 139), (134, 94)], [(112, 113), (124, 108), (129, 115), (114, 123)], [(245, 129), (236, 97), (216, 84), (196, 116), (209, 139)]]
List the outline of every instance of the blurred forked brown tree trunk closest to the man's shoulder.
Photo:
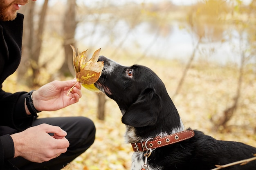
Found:
[[(38, 60), (43, 42), (43, 30), (47, 7), (48, 0), (45, 0), (39, 15), (39, 22), (36, 26), (38, 28), (37, 30), (34, 29), (36, 25), (36, 22), (34, 22), (35, 3), (29, 3), (26, 6), (26, 9), (24, 9), (27, 19), (24, 21), (23, 26), (24, 35), (22, 40), (22, 61), (18, 69), (17, 81), (22, 81), (22, 83), (25, 83), (28, 86), (38, 85), (37, 80), (40, 73)], [(30, 75), (24, 76), (30, 69), (32, 73)], [(20, 79), (20, 77), (23, 78)]]

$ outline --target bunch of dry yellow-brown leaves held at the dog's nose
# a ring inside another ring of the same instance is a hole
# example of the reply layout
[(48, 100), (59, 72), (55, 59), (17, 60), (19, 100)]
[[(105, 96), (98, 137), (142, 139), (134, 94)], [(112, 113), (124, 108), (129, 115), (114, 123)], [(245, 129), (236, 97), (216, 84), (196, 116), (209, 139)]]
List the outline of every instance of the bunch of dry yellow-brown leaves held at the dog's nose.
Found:
[[(77, 82), (80, 82), (82, 86), (90, 91), (99, 91), (94, 86), (94, 83), (97, 82), (97, 80), (101, 76), (101, 71), (104, 66), (104, 63), (102, 61), (98, 62), (101, 49), (96, 50), (93, 53), (92, 58), (88, 62), (86, 62), (87, 50), (83, 51), (80, 54), (78, 53), (78, 55), (76, 56), (76, 49), (74, 48), (74, 46), (70, 46), (73, 50), (73, 65), (76, 72)], [(72, 91), (73, 87), (70, 89), (70, 91)], [(70, 91), (67, 93), (67, 95), (70, 93)]]

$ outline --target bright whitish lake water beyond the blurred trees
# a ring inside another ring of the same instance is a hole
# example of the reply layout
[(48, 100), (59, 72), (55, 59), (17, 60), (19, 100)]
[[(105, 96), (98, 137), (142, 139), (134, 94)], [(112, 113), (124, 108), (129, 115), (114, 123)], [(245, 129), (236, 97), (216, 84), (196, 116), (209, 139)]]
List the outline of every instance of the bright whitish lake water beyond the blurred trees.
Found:
[[(153, 29), (147, 22), (142, 22), (133, 29), (130, 29), (124, 20), (118, 21), (115, 26), (87, 22), (77, 27), (76, 40), (90, 47), (111, 47), (150, 57), (188, 60), (198, 42), (197, 36), (189, 33), (187, 29), (180, 29), (179, 22), (173, 22), (170, 29), (166, 34)], [(200, 44), (196, 59), (220, 64), (239, 64), (240, 48), (237, 37), (236, 31), (233, 31), (232, 40)], [(225, 38), (227, 39), (224, 36), (223, 39)]]

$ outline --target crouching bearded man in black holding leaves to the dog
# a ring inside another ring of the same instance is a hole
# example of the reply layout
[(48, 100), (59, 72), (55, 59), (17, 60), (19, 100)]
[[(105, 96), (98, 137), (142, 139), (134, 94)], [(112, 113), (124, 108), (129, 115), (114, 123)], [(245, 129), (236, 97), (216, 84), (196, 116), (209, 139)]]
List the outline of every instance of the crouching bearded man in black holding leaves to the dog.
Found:
[(20, 63), (23, 15), (17, 10), (27, 3), (0, 0), (0, 170), (60, 170), (92, 145), (95, 127), (85, 117), (37, 119), (42, 110), (79, 101), (79, 83), (67, 96), (75, 80), (50, 82), (29, 93), (2, 90)]

